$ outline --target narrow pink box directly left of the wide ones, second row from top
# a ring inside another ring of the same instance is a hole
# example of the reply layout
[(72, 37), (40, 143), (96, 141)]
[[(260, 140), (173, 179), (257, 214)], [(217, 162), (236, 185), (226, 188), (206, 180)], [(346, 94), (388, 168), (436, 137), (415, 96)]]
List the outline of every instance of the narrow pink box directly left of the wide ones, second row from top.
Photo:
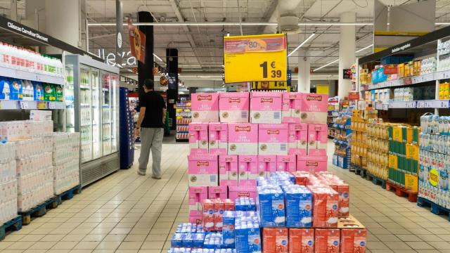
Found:
[(210, 155), (226, 155), (228, 150), (228, 124), (208, 125)]

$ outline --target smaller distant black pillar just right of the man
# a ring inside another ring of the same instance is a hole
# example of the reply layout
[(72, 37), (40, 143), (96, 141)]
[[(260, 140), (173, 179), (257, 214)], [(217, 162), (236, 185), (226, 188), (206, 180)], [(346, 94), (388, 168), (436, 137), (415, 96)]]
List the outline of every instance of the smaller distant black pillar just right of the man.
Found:
[(169, 74), (169, 89), (167, 89), (167, 112), (169, 113), (170, 129), (176, 129), (175, 103), (178, 101), (178, 49), (166, 48), (167, 74)]

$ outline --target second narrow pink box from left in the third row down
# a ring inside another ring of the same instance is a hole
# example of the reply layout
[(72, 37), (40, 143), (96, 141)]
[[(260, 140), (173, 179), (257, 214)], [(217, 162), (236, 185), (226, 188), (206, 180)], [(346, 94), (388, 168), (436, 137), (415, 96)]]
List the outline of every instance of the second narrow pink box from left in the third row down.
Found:
[(239, 186), (255, 187), (259, 174), (258, 171), (258, 156), (257, 155), (239, 155), (238, 156), (238, 170), (239, 170)]

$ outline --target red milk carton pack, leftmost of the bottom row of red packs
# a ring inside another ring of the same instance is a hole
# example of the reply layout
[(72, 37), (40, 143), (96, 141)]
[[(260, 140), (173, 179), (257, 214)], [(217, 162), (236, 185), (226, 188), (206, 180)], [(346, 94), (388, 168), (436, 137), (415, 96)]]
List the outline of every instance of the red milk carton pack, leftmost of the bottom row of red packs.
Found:
[(264, 228), (262, 230), (262, 252), (288, 253), (288, 228)]

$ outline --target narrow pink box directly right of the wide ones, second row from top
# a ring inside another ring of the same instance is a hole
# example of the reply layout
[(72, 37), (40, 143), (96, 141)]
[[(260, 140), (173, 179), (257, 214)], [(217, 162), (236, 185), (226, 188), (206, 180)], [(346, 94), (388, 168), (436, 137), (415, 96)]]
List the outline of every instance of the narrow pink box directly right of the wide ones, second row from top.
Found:
[(289, 124), (288, 127), (289, 155), (306, 155), (308, 147), (308, 124)]

